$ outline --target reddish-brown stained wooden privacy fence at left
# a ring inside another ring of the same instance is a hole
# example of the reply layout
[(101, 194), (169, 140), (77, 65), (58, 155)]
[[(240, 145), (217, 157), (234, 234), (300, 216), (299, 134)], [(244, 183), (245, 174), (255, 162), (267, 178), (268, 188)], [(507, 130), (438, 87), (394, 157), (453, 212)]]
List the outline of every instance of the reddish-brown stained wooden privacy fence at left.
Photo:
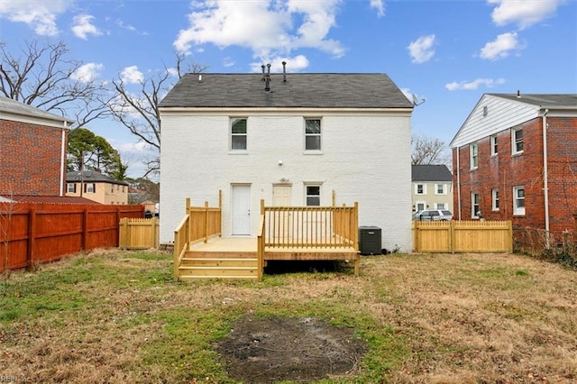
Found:
[(120, 219), (143, 206), (0, 203), (0, 271), (94, 248), (117, 247)]

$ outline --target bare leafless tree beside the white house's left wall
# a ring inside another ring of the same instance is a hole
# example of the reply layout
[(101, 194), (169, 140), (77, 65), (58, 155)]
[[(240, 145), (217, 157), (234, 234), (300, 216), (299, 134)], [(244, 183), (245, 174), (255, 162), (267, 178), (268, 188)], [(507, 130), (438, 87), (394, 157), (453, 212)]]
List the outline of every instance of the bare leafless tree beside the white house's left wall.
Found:
[(128, 130), (158, 151), (158, 155), (146, 162), (147, 171), (143, 178), (160, 171), (160, 114), (159, 104), (173, 86), (174, 78), (181, 78), (184, 73), (199, 73), (206, 67), (197, 63), (185, 63), (185, 56), (176, 53), (176, 63), (173, 68), (166, 65), (160, 72), (150, 78), (142, 78), (133, 86), (129, 84), (121, 73), (114, 78), (112, 85), (116, 97), (110, 100), (108, 107), (114, 119), (122, 123)]

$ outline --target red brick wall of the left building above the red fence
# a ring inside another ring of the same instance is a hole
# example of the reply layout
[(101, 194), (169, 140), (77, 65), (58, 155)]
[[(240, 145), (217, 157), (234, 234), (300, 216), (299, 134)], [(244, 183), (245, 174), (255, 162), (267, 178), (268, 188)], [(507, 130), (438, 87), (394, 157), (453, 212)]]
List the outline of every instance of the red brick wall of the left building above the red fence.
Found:
[(61, 142), (59, 128), (0, 120), (0, 195), (59, 196)]

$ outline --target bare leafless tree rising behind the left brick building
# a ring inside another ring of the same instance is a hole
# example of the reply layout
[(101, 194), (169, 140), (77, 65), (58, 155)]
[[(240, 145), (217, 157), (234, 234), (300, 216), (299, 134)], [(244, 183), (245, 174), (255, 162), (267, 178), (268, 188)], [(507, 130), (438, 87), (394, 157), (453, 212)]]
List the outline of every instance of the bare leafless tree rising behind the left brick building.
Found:
[(20, 54), (0, 42), (0, 95), (75, 120), (72, 128), (104, 117), (107, 90), (94, 79), (79, 76), (82, 61), (68, 59), (62, 41), (25, 42)]

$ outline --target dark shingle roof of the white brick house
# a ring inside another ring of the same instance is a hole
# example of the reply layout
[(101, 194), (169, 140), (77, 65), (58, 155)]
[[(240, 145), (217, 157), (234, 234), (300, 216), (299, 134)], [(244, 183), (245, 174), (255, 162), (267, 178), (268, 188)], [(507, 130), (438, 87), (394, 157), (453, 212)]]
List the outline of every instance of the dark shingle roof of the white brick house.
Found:
[[(200, 79), (201, 78), (201, 79)], [(187, 74), (160, 107), (412, 108), (385, 74)]]

